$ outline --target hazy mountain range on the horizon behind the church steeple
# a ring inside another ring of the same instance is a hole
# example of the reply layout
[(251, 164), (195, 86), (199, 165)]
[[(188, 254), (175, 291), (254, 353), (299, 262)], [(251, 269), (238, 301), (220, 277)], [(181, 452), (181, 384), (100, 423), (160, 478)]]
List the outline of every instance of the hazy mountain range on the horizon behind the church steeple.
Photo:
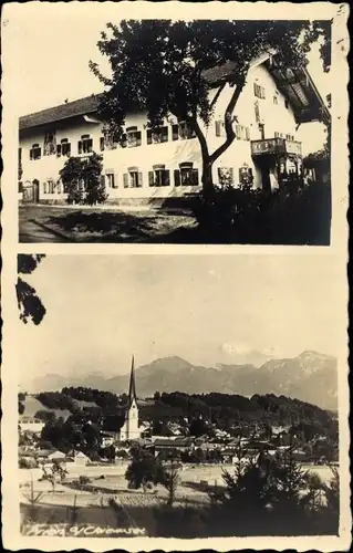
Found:
[[(206, 394), (218, 392), (252, 396), (283, 395), (325, 409), (338, 408), (338, 362), (335, 357), (305, 351), (297, 357), (253, 364), (217, 364), (215, 367), (193, 365), (177, 357), (164, 357), (135, 371), (139, 397), (156, 390)], [(127, 392), (128, 374), (105, 377), (101, 373), (83, 376), (44, 375), (32, 382), (28, 392), (61, 390), (64, 386), (84, 386), (121, 394)]]

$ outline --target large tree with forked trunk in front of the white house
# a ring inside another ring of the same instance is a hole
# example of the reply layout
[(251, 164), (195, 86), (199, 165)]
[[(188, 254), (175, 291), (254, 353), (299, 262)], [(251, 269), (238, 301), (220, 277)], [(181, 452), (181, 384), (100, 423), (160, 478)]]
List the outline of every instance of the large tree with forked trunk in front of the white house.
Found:
[[(323, 39), (321, 55), (330, 65), (330, 31), (324, 22), (245, 20), (124, 20), (108, 23), (97, 46), (108, 59), (111, 76), (96, 63), (93, 73), (107, 88), (101, 103), (106, 132), (122, 143), (126, 114), (147, 113), (148, 125), (156, 128), (173, 114), (196, 134), (203, 156), (205, 198), (212, 197), (211, 167), (232, 144), (233, 112), (251, 63), (261, 54), (276, 55), (279, 66), (302, 67), (311, 44)], [(228, 82), (231, 95), (224, 113), (226, 138), (210, 152), (206, 137), (215, 102), (209, 94), (207, 71), (231, 63)]]

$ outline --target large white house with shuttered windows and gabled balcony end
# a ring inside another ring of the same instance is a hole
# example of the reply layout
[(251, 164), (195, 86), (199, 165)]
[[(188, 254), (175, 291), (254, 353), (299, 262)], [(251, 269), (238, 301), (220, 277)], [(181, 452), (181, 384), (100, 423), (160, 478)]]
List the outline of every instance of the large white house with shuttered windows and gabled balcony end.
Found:
[[(204, 73), (215, 101), (207, 128), (210, 150), (225, 139), (224, 112), (233, 92), (233, 73), (231, 62)], [(129, 113), (121, 145), (103, 134), (100, 97), (91, 95), (20, 117), (23, 202), (64, 204), (68, 190), (59, 171), (70, 156), (87, 158), (93, 152), (103, 156), (102, 182), (110, 204), (180, 201), (201, 189), (199, 143), (185, 122), (168, 116), (152, 132), (146, 114)], [(273, 189), (291, 174), (302, 174), (298, 126), (329, 121), (330, 114), (307, 70), (281, 69), (276, 55), (266, 53), (249, 70), (235, 117), (236, 139), (215, 163), (214, 182)]]

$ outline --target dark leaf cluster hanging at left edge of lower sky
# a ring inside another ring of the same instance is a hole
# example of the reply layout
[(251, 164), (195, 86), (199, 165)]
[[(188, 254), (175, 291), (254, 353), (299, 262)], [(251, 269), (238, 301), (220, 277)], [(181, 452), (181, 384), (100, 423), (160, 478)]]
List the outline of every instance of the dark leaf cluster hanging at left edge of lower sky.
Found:
[(37, 291), (24, 279), (23, 275), (31, 274), (45, 255), (43, 254), (18, 254), (18, 281), (15, 292), (20, 320), (23, 323), (32, 321), (35, 325), (40, 324), (45, 315), (45, 307), (38, 296)]

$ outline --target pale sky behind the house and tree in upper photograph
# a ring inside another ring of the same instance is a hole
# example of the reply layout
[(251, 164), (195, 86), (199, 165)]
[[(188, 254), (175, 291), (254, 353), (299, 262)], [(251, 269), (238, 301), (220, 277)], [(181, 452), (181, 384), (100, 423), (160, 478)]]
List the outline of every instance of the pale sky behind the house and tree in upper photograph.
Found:
[[(79, 9), (70, 4), (50, 8), (38, 9), (34, 18), (24, 9), (9, 18), (10, 46), (17, 60), (8, 73), (11, 72), (13, 91), (21, 91), (14, 97), (17, 116), (102, 92), (102, 84), (89, 70), (90, 60), (108, 74), (107, 59), (101, 55), (96, 43), (108, 21), (118, 22), (118, 4), (112, 9), (110, 2), (103, 2), (94, 10), (84, 7), (84, 11), (81, 6)], [(330, 75), (322, 71), (318, 48), (310, 54), (309, 71), (325, 98), (331, 92)], [(304, 154), (324, 142), (318, 124), (303, 125), (300, 135)]]

